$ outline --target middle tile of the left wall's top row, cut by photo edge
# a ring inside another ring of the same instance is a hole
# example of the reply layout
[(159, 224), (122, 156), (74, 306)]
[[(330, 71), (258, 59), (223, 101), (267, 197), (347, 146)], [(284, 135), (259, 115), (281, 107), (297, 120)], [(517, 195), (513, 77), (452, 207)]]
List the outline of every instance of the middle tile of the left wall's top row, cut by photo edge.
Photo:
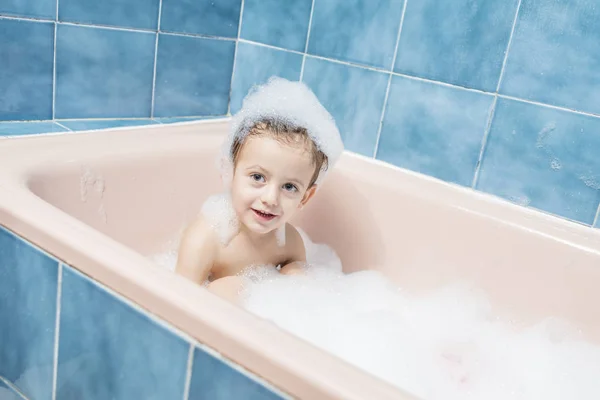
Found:
[(158, 3), (159, 0), (60, 0), (58, 19), (156, 30)]

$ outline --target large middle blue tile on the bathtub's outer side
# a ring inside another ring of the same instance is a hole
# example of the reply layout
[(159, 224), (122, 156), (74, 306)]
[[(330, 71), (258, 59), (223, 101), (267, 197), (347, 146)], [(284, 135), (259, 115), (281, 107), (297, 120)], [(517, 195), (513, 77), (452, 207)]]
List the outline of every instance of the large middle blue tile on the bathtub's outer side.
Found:
[(57, 399), (182, 399), (189, 347), (63, 268)]

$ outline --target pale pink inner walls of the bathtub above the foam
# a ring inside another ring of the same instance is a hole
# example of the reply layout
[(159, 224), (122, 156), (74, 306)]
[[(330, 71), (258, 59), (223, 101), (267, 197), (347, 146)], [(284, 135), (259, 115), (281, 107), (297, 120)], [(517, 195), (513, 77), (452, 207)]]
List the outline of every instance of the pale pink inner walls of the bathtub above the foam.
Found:
[[(203, 201), (222, 190), (215, 164), (222, 133), (204, 135), (166, 150), (73, 154), (30, 171), (27, 186), (150, 256), (173, 248)], [(540, 228), (578, 232), (575, 224), (348, 153), (294, 223), (331, 246), (346, 273), (378, 270), (412, 292), (468, 282), (515, 324), (566, 318), (600, 343), (598, 248)]]

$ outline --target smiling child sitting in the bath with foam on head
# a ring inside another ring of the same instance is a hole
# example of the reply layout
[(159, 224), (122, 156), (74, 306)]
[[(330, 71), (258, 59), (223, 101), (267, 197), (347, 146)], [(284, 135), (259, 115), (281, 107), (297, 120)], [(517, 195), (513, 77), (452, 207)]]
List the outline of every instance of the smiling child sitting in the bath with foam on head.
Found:
[(176, 272), (236, 301), (239, 273), (272, 265), (302, 271), (306, 250), (289, 220), (341, 155), (333, 118), (302, 83), (272, 78), (244, 99), (223, 147), (227, 192), (185, 230)]

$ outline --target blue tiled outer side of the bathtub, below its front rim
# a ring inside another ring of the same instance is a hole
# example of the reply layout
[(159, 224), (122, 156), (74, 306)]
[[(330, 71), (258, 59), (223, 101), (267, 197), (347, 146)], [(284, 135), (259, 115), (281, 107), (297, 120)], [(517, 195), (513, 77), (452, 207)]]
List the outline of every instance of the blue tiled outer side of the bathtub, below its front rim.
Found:
[(287, 398), (0, 227), (0, 398)]

